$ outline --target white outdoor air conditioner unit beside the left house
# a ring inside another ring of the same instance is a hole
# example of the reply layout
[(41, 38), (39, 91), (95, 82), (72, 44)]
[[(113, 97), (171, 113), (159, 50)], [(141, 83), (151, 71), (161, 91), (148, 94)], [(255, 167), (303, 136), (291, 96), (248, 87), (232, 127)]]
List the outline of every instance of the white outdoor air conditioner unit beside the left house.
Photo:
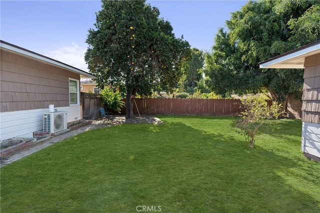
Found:
[(67, 129), (66, 116), (64, 111), (43, 113), (43, 132), (55, 133)]

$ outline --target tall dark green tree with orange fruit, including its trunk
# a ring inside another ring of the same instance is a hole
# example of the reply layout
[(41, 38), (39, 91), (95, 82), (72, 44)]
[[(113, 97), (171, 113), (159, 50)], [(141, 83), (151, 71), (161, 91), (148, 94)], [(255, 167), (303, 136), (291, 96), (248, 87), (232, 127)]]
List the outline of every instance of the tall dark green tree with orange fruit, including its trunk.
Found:
[(95, 29), (88, 30), (85, 61), (98, 86), (125, 87), (126, 118), (135, 94), (172, 92), (189, 56), (189, 44), (176, 38), (159, 10), (145, 1), (102, 0)]

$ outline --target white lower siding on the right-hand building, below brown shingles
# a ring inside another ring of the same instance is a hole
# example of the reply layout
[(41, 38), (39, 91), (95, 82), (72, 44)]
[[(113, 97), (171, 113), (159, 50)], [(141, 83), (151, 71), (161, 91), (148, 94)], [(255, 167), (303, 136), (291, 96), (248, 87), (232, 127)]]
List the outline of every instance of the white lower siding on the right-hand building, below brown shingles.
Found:
[(301, 151), (320, 158), (320, 124), (302, 122)]

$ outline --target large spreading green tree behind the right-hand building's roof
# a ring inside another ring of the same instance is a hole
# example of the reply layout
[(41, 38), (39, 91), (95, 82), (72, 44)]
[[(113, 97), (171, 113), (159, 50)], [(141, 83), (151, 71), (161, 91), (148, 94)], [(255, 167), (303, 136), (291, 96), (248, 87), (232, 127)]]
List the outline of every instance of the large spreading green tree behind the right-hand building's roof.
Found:
[(222, 95), (267, 90), (284, 109), (300, 90), (301, 69), (259, 69), (258, 62), (320, 39), (320, 1), (248, 1), (215, 36), (205, 55), (206, 84)]

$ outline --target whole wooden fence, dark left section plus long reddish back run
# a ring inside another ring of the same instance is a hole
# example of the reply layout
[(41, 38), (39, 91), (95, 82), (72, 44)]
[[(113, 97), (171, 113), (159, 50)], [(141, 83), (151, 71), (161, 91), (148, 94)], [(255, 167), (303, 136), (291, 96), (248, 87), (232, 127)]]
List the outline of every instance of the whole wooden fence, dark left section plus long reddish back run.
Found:
[[(125, 102), (125, 99), (122, 101)], [(140, 114), (162, 115), (237, 115), (240, 113), (238, 99), (184, 99), (184, 98), (149, 98), (135, 99)], [(99, 107), (104, 107), (98, 94), (81, 93), (81, 115), (85, 119), (99, 117)], [(133, 113), (137, 114), (135, 105)], [(121, 109), (125, 114), (125, 107)]]

